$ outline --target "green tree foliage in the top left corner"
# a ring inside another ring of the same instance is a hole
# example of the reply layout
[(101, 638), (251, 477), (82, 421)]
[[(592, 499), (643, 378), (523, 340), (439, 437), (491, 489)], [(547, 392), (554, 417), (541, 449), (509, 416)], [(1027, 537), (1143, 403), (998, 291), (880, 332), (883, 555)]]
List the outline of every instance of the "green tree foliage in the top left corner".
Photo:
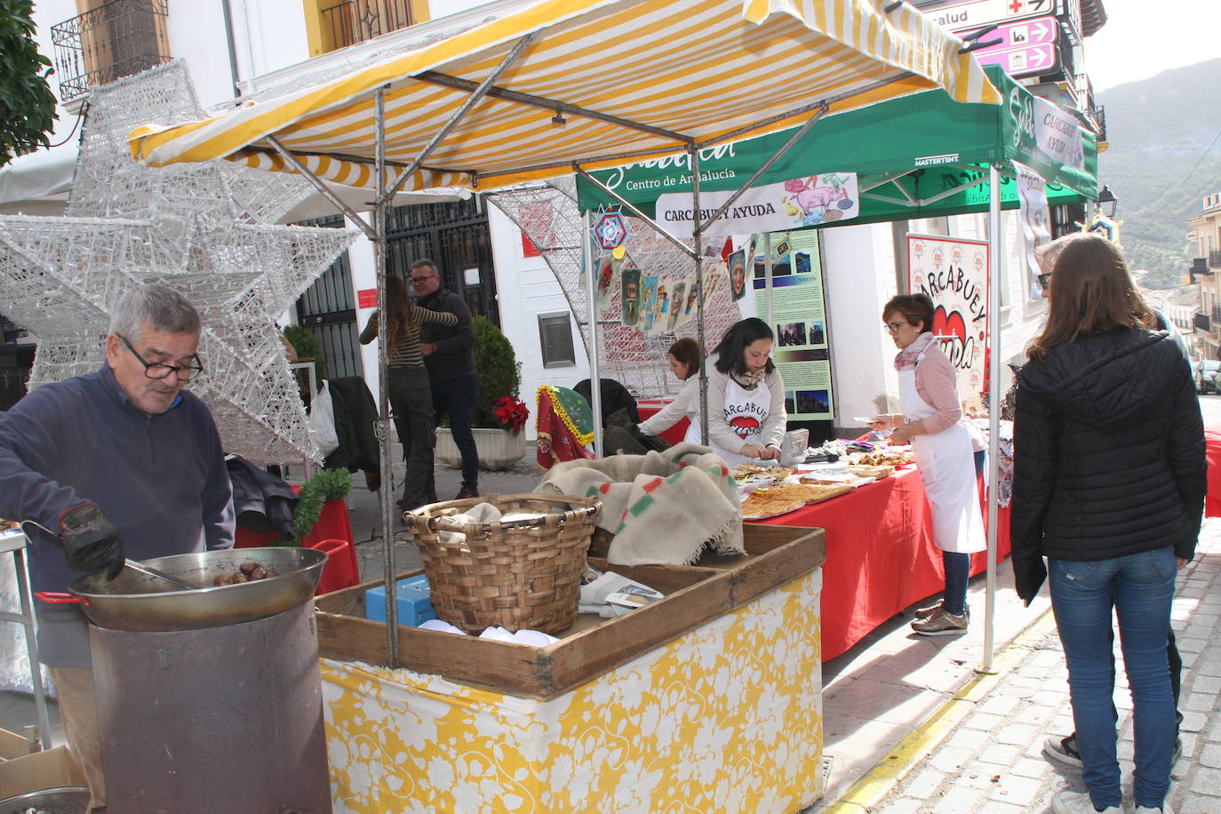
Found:
[(0, 166), (48, 146), (55, 129), (51, 62), (34, 41), (32, 0), (0, 0)]

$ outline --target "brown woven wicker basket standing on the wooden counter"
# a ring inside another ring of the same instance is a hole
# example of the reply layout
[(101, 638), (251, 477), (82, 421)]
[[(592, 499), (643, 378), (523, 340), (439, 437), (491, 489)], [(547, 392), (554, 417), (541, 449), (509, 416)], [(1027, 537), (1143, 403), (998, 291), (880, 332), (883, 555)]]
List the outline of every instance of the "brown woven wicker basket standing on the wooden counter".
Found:
[[(479, 503), (503, 513), (543, 511), (536, 520), (459, 522)], [(424, 559), (437, 619), (473, 633), (499, 625), (556, 633), (576, 620), (585, 550), (601, 514), (596, 498), (490, 494), (403, 514)], [(446, 542), (443, 532), (462, 532)]]

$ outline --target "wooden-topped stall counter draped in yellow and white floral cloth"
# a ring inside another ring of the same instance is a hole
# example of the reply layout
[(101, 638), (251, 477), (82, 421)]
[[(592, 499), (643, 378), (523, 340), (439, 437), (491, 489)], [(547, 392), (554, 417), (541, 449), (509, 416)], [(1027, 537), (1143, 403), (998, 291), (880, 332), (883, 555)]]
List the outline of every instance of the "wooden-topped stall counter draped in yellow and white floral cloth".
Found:
[[(818, 530), (613, 570), (667, 592), (531, 648), (399, 627), (357, 586), (317, 602), (336, 812), (795, 812), (822, 794)], [(606, 563), (591, 558), (595, 567)], [(415, 574), (411, 571), (408, 574)]]

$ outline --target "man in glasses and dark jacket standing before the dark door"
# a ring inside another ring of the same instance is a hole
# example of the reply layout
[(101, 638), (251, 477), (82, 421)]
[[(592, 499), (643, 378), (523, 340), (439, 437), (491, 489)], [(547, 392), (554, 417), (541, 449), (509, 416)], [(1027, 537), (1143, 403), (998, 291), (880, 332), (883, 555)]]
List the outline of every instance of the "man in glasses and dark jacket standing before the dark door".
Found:
[(462, 489), (457, 499), (479, 497), (479, 450), (471, 432), (479, 380), (475, 377), (475, 331), (470, 309), (460, 297), (441, 287), (437, 266), (427, 258), (411, 264), (411, 288), (421, 306), (458, 317), (453, 327), (420, 326), (420, 353), (429, 369), (436, 421), (440, 423), (442, 416), (449, 416), (449, 431), (462, 453)]

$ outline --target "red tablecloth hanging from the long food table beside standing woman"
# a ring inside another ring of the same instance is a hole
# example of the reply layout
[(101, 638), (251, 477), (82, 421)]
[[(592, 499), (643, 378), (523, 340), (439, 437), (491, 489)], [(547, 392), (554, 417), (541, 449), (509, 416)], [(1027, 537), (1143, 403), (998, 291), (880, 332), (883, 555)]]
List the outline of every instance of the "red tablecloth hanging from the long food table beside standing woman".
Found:
[[(987, 504), (983, 503), (987, 524)], [(904, 608), (945, 587), (941, 552), (933, 544), (933, 515), (915, 467), (847, 494), (762, 520), (827, 531), (823, 565), (823, 660), (856, 644)], [(999, 517), (996, 559), (1009, 556), (1009, 510)], [(971, 574), (988, 553), (971, 558)]]

